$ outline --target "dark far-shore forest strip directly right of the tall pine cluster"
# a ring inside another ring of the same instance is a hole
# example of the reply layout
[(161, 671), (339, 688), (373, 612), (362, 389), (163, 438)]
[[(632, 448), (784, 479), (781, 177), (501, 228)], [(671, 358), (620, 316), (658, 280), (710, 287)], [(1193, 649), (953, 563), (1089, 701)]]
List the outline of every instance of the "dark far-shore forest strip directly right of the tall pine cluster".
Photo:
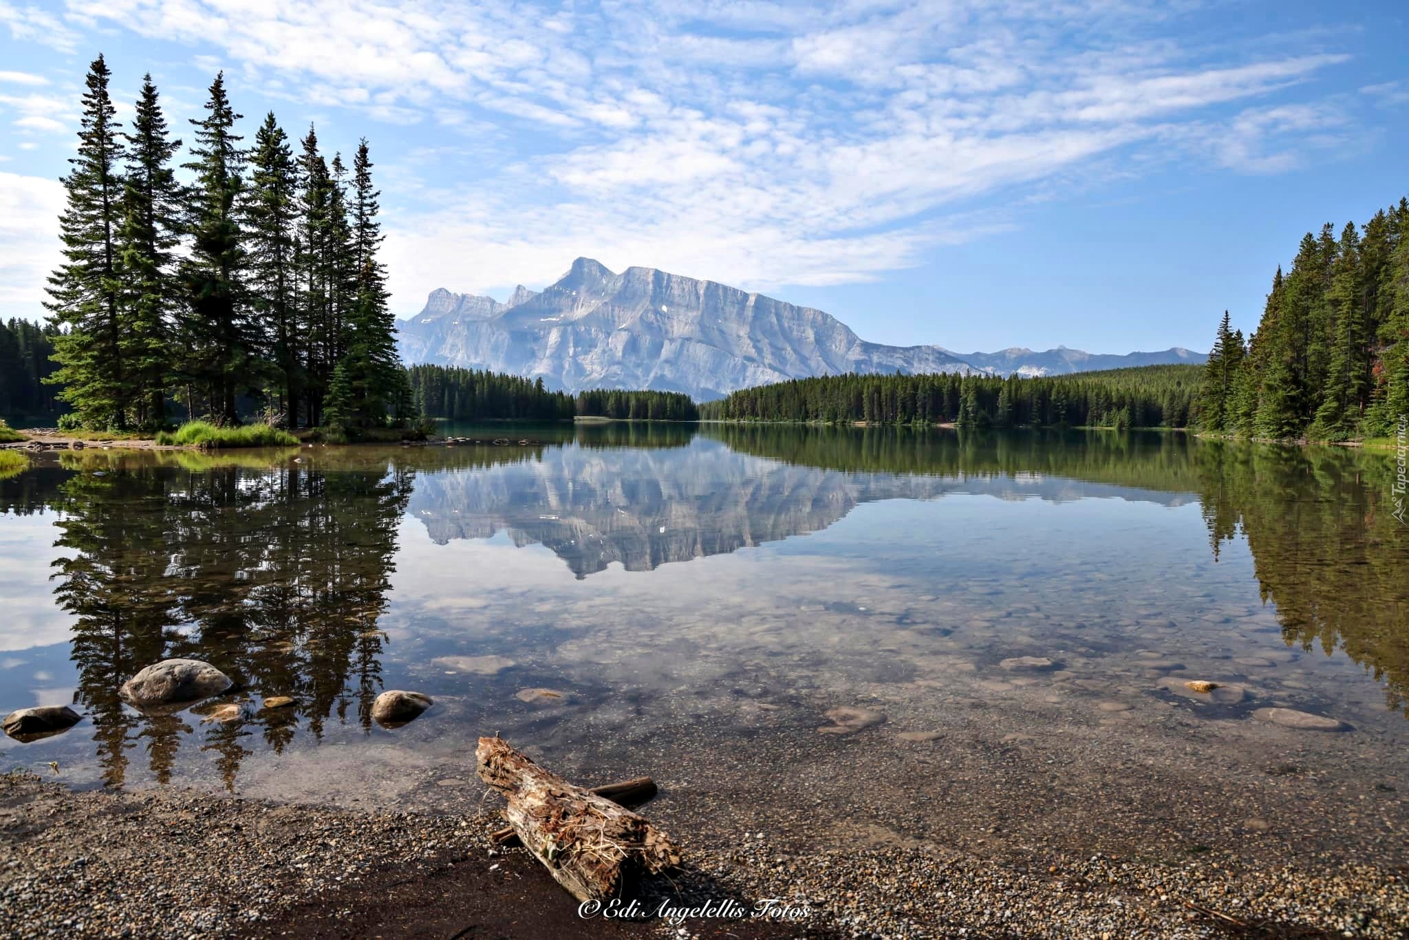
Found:
[(413, 365), (407, 371), (414, 407), (430, 419), (452, 421), (541, 420), (610, 417), (640, 421), (697, 420), (695, 402), (678, 392), (624, 392), (593, 389), (576, 397), (548, 389), (542, 379), (462, 369), (445, 365)]

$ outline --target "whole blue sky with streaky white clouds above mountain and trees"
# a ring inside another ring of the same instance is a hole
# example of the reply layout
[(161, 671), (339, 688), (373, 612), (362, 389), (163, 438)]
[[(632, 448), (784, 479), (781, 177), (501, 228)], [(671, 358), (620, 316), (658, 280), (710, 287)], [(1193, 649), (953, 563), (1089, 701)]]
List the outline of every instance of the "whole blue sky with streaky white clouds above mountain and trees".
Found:
[(89, 62), (366, 137), (393, 307), (579, 255), (878, 342), (1208, 350), (1409, 193), (1409, 8), (1257, 0), (0, 0), (0, 317), (44, 316)]

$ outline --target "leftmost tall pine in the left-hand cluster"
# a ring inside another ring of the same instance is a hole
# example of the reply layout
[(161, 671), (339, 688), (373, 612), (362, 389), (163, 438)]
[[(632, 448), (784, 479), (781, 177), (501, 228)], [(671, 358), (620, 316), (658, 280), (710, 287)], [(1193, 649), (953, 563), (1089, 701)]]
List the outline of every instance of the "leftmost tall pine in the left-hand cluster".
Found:
[(118, 234), (123, 227), (121, 145), (116, 109), (108, 97), (111, 73), (103, 56), (89, 66), (77, 155), (63, 178), (68, 204), (59, 217), (63, 264), (49, 276), (45, 307), (62, 328), (54, 337), (61, 368), (49, 381), (63, 386), (83, 424), (125, 428), (132, 397), (123, 357), (124, 324), (118, 282)]

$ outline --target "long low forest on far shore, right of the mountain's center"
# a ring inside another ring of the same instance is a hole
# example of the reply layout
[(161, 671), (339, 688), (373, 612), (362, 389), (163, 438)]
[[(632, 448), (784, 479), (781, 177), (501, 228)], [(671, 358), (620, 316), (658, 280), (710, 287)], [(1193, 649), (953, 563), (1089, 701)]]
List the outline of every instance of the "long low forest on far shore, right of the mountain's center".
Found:
[(700, 406), (727, 421), (944, 424), (976, 427), (1185, 427), (1200, 366), (1160, 365), (1076, 375), (828, 375), (743, 389)]

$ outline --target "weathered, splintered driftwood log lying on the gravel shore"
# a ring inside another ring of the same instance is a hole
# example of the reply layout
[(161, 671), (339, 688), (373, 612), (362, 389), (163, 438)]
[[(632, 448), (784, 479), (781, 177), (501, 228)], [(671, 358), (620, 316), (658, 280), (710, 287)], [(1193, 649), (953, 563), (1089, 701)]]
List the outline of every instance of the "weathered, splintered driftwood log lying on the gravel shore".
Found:
[(619, 896), (643, 872), (681, 862), (669, 837), (645, 819), (538, 767), (507, 741), (479, 738), (475, 758), (479, 778), (509, 799), (504, 815), (520, 841), (578, 901)]

